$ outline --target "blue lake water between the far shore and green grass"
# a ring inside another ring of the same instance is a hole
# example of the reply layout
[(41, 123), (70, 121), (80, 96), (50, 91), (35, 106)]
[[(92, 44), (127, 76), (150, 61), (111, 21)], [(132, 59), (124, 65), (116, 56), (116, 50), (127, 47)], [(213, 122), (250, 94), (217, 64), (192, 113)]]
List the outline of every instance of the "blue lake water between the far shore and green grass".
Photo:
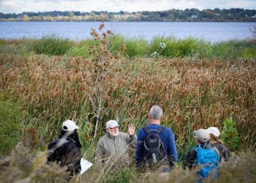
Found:
[[(90, 37), (91, 28), (98, 30), (95, 21), (0, 21), (0, 38), (41, 38), (57, 34), (70, 40)], [(195, 37), (206, 41), (220, 42), (232, 39), (252, 38), (251, 28), (255, 22), (105, 22), (106, 30), (127, 38), (143, 37), (151, 40), (156, 36), (171, 36), (178, 39)], [(105, 31), (105, 30), (104, 30)]]

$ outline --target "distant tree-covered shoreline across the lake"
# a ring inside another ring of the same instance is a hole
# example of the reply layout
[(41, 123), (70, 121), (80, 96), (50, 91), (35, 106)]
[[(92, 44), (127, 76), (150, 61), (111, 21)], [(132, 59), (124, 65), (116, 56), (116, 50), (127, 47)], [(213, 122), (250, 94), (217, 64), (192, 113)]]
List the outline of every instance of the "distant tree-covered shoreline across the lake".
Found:
[(243, 8), (197, 8), (167, 11), (45, 11), (21, 14), (0, 13), (0, 21), (256, 21), (256, 10)]

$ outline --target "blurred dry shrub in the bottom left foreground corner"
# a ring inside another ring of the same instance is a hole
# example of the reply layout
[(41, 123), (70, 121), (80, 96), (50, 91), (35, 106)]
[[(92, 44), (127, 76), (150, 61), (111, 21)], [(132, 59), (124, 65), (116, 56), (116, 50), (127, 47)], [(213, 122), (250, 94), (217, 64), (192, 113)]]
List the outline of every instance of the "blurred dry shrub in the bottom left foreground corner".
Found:
[(46, 161), (46, 151), (33, 155), (18, 143), (11, 156), (0, 160), (1, 182), (67, 182), (66, 167)]

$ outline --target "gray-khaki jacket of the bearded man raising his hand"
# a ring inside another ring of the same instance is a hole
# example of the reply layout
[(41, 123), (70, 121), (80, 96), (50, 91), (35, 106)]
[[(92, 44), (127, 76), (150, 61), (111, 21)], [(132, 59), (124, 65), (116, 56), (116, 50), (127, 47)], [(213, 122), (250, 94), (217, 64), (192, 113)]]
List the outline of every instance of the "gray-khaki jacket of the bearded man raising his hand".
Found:
[(130, 144), (135, 146), (136, 140), (136, 134), (130, 136), (128, 133), (119, 132), (118, 136), (111, 138), (107, 133), (99, 139), (95, 155), (99, 159), (120, 158), (122, 161), (128, 162), (128, 147)]

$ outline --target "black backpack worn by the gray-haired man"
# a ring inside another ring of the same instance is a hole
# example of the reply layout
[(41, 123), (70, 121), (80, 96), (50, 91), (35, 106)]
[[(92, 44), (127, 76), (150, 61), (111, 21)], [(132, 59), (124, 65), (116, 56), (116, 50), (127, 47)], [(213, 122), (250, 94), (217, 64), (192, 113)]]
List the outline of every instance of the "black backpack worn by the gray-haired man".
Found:
[(158, 130), (151, 131), (148, 127), (142, 129), (147, 133), (144, 140), (144, 158), (147, 162), (156, 163), (164, 159), (164, 143), (161, 142), (159, 134), (166, 127), (160, 127)]

